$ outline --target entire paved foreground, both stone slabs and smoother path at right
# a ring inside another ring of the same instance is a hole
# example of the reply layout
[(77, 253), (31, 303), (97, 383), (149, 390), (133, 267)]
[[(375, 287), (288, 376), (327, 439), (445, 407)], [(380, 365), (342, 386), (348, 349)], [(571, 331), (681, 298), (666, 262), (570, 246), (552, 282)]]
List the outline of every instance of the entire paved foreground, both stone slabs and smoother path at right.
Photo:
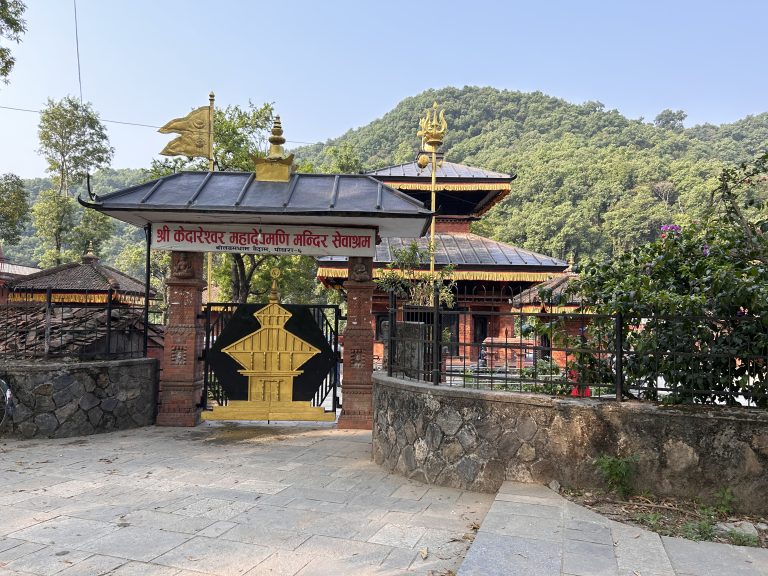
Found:
[(370, 432), (206, 423), (0, 443), (0, 574), (768, 576), (768, 550), (661, 538), (506, 482), (371, 461)]

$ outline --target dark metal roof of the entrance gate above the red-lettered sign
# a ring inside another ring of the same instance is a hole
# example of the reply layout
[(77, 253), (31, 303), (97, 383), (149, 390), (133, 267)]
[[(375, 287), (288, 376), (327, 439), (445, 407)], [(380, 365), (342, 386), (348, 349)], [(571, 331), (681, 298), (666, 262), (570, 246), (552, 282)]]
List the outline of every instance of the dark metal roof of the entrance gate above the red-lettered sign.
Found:
[(431, 212), (370, 176), (294, 174), (261, 182), (250, 172), (180, 172), (80, 203), (143, 226), (148, 222), (308, 223), (375, 227), (417, 236)]

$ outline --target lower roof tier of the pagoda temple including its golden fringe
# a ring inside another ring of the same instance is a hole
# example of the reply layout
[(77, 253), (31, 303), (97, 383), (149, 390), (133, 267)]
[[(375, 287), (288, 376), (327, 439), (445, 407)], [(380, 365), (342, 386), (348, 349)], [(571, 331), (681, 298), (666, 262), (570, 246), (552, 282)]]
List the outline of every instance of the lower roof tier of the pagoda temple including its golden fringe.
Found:
[[(393, 261), (394, 251), (416, 241), (419, 248), (427, 249), (428, 237), (382, 238), (376, 246), (374, 268), (382, 269)], [(341, 256), (318, 259), (317, 275), (330, 278), (346, 277), (346, 261)], [(422, 264), (429, 266), (429, 260)], [(538, 254), (504, 242), (472, 233), (435, 234), (435, 265), (453, 265), (452, 277), (456, 280), (529, 280), (544, 281), (553, 274), (560, 274), (568, 263), (558, 258)], [(374, 275), (376, 270), (374, 270)]]

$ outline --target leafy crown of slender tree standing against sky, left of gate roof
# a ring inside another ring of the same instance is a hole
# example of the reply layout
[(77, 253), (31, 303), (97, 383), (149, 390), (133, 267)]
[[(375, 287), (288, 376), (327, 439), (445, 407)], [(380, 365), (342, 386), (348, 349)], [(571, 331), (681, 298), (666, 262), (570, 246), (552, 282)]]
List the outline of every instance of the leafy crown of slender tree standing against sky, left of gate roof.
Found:
[(114, 153), (93, 107), (71, 96), (59, 102), (48, 99), (40, 114), (38, 138), (39, 152), (48, 162), (59, 194), (67, 194), (91, 170), (108, 166)]

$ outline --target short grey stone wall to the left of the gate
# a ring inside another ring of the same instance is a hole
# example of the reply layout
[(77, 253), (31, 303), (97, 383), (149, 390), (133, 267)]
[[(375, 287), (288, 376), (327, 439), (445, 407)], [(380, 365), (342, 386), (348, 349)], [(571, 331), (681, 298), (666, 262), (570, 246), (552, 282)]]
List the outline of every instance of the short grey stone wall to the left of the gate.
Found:
[(16, 408), (1, 434), (66, 438), (154, 424), (157, 361), (0, 363)]

